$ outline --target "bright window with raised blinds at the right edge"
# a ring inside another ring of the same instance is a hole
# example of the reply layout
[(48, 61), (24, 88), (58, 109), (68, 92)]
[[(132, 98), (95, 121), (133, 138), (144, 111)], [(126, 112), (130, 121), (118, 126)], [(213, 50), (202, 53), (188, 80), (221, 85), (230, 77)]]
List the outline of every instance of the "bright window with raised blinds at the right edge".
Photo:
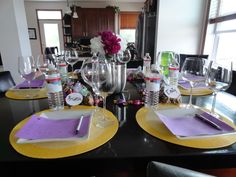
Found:
[(236, 1), (212, 0), (204, 53), (218, 63), (234, 61), (236, 68)]

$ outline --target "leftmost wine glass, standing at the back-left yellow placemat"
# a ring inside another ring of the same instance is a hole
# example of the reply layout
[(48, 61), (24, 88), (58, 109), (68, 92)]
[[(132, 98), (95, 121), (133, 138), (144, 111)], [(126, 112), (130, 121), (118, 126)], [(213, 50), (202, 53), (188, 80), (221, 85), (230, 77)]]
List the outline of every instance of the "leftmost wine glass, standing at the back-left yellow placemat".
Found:
[[(36, 61), (33, 56), (18, 57), (18, 72), (27, 81), (29, 88), (31, 87), (31, 81), (35, 78), (36, 68)], [(26, 95), (26, 97), (31, 96), (30, 94)]]

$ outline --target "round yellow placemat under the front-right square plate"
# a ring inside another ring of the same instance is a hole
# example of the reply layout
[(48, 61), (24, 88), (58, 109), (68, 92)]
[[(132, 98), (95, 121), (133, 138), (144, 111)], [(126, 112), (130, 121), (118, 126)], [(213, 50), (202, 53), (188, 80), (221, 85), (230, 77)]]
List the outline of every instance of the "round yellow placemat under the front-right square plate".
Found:
[[(170, 109), (171, 107), (176, 108), (177, 106), (160, 105), (158, 109)], [(138, 112), (136, 113), (136, 120), (139, 126), (152, 136), (182, 146), (200, 148), (200, 149), (214, 149), (214, 148), (229, 146), (236, 142), (236, 135), (234, 134), (208, 137), (208, 138), (204, 137), (195, 139), (178, 139), (157, 118), (157, 115), (146, 107), (142, 107), (140, 110), (138, 110)], [(231, 126), (234, 126), (232, 123), (227, 121), (227, 119), (223, 120), (228, 124), (231, 124)]]

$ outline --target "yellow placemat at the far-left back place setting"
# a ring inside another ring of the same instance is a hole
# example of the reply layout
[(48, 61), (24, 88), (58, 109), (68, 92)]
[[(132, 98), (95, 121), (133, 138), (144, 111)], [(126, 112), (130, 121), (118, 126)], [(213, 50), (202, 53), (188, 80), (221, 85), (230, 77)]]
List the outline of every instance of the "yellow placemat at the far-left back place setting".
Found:
[[(27, 95), (32, 96), (27, 96)], [(5, 93), (7, 98), (16, 99), (16, 100), (32, 100), (32, 99), (41, 99), (47, 98), (47, 89), (10, 89)]]

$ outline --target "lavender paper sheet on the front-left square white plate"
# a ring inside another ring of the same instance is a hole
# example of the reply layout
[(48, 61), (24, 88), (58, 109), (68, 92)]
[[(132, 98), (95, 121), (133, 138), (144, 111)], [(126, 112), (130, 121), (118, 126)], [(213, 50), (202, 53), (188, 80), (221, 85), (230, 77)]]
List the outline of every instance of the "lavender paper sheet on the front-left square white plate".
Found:
[(78, 130), (80, 118), (55, 120), (33, 115), (15, 136), (30, 140), (83, 137), (88, 135), (90, 117), (84, 116)]

